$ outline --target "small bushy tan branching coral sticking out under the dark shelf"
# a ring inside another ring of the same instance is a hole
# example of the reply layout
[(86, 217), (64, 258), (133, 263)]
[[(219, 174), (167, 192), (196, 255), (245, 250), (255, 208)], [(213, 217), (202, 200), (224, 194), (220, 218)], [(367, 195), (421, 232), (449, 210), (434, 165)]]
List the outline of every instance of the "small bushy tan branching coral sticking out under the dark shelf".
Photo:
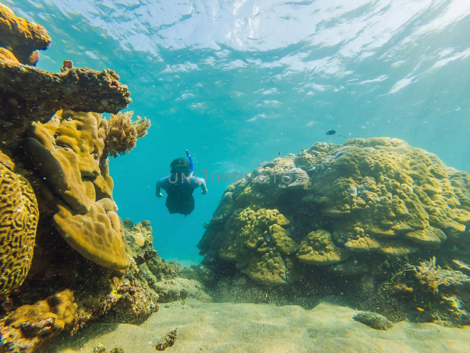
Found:
[(118, 112), (118, 114), (110, 116), (104, 144), (113, 157), (130, 152), (135, 147), (137, 140), (147, 135), (150, 120), (137, 116), (137, 120), (132, 121), (133, 113), (133, 111)]

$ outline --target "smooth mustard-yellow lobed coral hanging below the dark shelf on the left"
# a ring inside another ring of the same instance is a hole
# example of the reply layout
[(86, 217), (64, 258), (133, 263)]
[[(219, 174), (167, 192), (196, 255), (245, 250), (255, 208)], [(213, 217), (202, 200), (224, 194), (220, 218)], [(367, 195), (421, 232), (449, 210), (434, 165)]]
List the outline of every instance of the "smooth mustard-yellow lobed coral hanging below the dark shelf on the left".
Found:
[(89, 260), (124, 269), (129, 259), (103, 154), (105, 131), (101, 114), (63, 111), (45, 124), (34, 123), (25, 145), (56, 197), (59, 233)]

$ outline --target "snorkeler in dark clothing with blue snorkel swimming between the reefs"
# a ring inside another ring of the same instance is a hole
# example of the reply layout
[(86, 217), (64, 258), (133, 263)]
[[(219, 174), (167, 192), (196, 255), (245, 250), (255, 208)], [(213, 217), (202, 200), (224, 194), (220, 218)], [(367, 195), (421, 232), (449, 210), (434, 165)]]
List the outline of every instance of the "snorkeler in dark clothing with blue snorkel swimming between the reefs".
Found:
[(201, 185), (202, 194), (207, 193), (207, 187), (203, 178), (193, 176), (193, 160), (186, 150), (188, 160), (177, 158), (170, 164), (170, 176), (165, 176), (157, 181), (156, 192), (158, 198), (163, 197), (161, 189), (167, 193), (166, 208), (170, 213), (180, 213), (188, 216), (194, 210), (193, 192)]

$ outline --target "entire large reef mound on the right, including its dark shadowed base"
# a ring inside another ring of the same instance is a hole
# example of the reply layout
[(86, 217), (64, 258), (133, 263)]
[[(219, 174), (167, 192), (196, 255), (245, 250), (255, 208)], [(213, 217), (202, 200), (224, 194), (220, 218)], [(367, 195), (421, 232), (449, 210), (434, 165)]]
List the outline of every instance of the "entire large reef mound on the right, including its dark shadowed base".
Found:
[[(467, 324), (462, 276), (470, 273), (469, 190), (470, 173), (399, 139), (315, 143), (297, 156), (261, 163), (227, 187), (197, 245), (204, 260), (185, 275), (213, 288), (243, 278), (282, 285), (285, 290), (272, 295), (293, 293), (294, 299), (299, 291), (322, 295), (315, 288), (325, 286), (365, 310), (388, 307), (396, 318)], [(433, 256), (445, 268), (424, 271), (419, 264)], [(406, 266), (407, 276), (426, 273), (422, 281), (439, 292), (421, 291), (418, 276), (400, 280)], [(431, 281), (436, 271), (439, 281)], [(447, 285), (445, 273), (462, 282)], [(422, 302), (413, 302), (414, 296)], [(426, 301), (432, 310), (423, 308)], [(415, 309), (407, 312), (410, 303)], [(449, 314), (443, 318), (442, 312)]]

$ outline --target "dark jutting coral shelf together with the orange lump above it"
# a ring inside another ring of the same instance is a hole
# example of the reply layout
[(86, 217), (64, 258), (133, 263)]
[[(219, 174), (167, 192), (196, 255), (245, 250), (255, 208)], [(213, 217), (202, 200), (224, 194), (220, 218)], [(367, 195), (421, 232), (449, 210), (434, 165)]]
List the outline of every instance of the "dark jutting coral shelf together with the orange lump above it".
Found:
[(112, 70), (75, 68), (71, 62), (61, 73), (30, 66), (39, 59), (36, 49), (47, 49), (50, 41), (42, 26), (0, 3), (0, 140), (9, 149), (21, 143), (32, 121), (47, 122), (59, 109), (117, 113), (132, 102)]

